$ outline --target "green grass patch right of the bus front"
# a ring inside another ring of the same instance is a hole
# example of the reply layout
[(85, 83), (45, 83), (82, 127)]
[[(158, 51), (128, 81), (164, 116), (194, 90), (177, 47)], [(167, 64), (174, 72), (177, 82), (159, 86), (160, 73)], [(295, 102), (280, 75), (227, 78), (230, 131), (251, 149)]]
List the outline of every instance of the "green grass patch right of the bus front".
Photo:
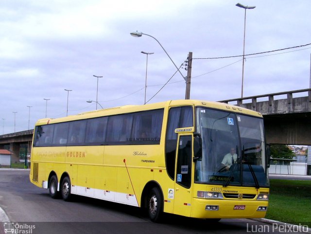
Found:
[(311, 227), (311, 180), (270, 180), (265, 218)]

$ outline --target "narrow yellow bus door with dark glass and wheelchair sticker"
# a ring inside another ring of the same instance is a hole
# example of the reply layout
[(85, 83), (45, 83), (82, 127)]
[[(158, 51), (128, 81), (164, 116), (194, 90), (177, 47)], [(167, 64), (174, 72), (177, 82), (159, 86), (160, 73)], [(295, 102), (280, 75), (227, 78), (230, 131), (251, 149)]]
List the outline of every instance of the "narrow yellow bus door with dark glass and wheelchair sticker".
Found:
[(175, 173), (174, 214), (191, 214), (192, 135), (179, 135)]

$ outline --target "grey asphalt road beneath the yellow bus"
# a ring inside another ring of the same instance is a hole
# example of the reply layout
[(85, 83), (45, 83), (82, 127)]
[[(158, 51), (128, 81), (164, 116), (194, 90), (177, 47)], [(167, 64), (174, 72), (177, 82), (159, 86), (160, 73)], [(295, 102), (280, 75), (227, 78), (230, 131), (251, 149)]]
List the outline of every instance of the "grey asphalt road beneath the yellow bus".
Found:
[[(52, 199), (48, 190), (29, 181), (29, 170), (0, 170), (0, 208), (11, 222), (18, 223), (19, 230), (31, 229), (32, 234), (283, 233), (276, 225), (249, 219), (222, 219), (209, 223), (202, 219), (165, 215), (162, 223), (153, 223), (137, 207), (80, 196), (75, 196), (72, 202)], [(4, 222), (0, 223), (0, 234), (3, 230)]]

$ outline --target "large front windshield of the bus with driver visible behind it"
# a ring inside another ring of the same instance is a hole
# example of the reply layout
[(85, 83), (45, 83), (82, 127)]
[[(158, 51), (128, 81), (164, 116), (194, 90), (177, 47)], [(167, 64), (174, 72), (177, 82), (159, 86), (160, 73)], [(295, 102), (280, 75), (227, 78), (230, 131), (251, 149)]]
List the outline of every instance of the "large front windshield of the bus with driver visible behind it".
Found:
[(195, 182), (267, 187), (263, 119), (208, 108), (196, 109), (202, 158)]

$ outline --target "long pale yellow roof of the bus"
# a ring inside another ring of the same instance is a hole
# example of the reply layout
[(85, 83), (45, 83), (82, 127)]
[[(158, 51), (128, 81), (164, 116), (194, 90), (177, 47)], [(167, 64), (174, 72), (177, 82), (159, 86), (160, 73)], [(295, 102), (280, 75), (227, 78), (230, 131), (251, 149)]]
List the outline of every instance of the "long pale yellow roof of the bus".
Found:
[(120, 106), (120, 107), (114, 107), (114, 108), (92, 110), (92, 111), (79, 113), (77, 115), (69, 115), (67, 117), (61, 117), (57, 119), (50, 119), (50, 118), (40, 119), (36, 122), (35, 125), (61, 123), (61, 122), (79, 120), (79, 119), (96, 118), (100, 116), (124, 114), (124, 113), (145, 111), (145, 110), (151, 110), (151, 109), (159, 109), (159, 108), (175, 107), (175, 106), (187, 106), (187, 105), (221, 109), (225, 111), (232, 111), (232, 112), (253, 115), (255, 117), (262, 118), (262, 115), (259, 112), (254, 111), (254, 110), (234, 106), (231, 104), (220, 103), (220, 102), (190, 99), (190, 100), (170, 100), (166, 102), (158, 102), (158, 103), (146, 104), (146, 105), (126, 105), (126, 106)]

